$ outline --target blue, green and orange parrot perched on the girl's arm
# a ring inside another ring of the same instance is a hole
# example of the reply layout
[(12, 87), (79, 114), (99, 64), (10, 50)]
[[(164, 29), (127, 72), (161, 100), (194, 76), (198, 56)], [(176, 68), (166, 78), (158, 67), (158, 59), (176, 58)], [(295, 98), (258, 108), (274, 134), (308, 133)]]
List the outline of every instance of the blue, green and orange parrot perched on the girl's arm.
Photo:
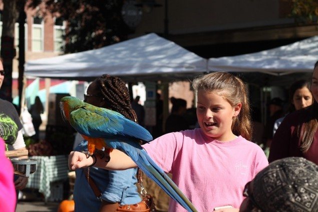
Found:
[(101, 147), (110, 149), (109, 152), (112, 149), (124, 152), (172, 199), (186, 210), (197, 212), (191, 201), (142, 148), (141, 144), (153, 140), (148, 130), (116, 111), (96, 107), (77, 97), (63, 97), (60, 108), (62, 116), (71, 126), (88, 143), (93, 143), (89, 148), (91, 154), (95, 148)]

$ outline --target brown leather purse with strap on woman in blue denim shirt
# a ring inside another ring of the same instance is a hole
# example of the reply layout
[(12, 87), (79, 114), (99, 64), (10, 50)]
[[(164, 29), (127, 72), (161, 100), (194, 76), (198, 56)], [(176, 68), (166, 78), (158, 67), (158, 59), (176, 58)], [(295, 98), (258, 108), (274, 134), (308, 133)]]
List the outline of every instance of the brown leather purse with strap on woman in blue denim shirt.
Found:
[[(101, 199), (101, 191), (95, 184), (94, 180), (89, 177), (88, 171), (84, 169), (84, 174), (86, 176), (86, 179), (88, 180), (92, 190), (94, 191), (96, 197), (98, 199)], [(137, 178), (138, 178), (138, 184), (141, 187), (141, 195), (142, 195), (142, 200), (136, 204), (124, 204), (124, 205), (119, 205), (116, 211), (127, 211), (127, 212), (156, 212), (155, 204), (152, 199), (152, 196), (150, 194), (147, 194), (147, 191), (143, 185), (142, 181), (143, 177), (143, 172), (138, 168), (137, 171)]]

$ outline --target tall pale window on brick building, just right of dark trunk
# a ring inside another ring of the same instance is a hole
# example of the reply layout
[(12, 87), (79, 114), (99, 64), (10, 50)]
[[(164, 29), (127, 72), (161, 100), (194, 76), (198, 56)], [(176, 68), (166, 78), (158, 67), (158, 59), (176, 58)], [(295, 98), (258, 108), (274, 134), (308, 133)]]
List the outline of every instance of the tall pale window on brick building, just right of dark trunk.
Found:
[(32, 51), (43, 52), (44, 45), (44, 27), (41, 17), (33, 17), (32, 25)]

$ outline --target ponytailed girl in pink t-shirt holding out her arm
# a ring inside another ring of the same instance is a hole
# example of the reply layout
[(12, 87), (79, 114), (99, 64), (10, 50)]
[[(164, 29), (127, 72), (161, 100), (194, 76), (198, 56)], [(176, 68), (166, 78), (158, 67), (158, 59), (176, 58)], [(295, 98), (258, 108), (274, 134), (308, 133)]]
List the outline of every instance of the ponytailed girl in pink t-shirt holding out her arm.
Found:
[[(197, 93), (200, 128), (165, 134), (143, 148), (190, 199), (198, 211), (238, 211), (245, 184), (268, 165), (262, 149), (248, 141), (252, 128), (244, 83), (237, 77), (214, 72), (192, 84)], [(136, 164), (114, 150), (110, 162), (71, 152), (69, 167), (97, 162), (106, 169), (126, 169)], [(217, 209), (230, 205), (231, 208)], [(174, 200), (169, 211), (185, 211)]]

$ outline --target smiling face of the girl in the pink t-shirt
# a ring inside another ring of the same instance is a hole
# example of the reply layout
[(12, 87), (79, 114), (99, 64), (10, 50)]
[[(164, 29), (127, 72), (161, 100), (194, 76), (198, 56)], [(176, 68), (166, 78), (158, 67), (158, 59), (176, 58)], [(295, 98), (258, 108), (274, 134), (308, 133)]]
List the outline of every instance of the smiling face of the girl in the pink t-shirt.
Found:
[(235, 138), (231, 125), (233, 117), (239, 114), (241, 103), (232, 107), (228, 101), (215, 91), (198, 91), (196, 114), (198, 123), (205, 135), (219, 141)]

